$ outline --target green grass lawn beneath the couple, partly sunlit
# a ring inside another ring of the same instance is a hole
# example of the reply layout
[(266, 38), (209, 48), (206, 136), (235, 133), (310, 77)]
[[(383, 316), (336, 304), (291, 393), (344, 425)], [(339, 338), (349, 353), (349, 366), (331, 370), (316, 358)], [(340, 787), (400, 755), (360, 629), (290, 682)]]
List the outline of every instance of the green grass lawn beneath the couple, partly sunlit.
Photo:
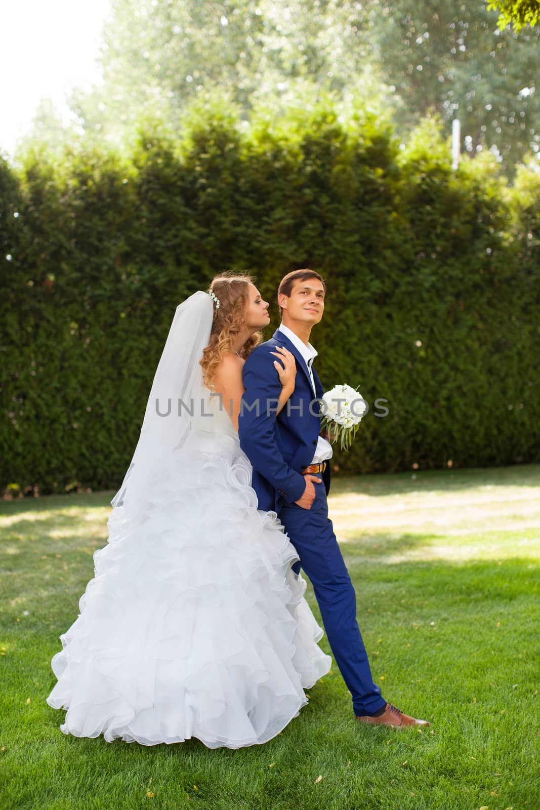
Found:
[(50, 659), (114, 493), (2, 502), (0, 807), (538, 810), (539, 486), (539, 465), (334, 480), (373, 677), (432, 725), (361, 726), (334, 664), (282, 734), (236, 751), (62, 734)]

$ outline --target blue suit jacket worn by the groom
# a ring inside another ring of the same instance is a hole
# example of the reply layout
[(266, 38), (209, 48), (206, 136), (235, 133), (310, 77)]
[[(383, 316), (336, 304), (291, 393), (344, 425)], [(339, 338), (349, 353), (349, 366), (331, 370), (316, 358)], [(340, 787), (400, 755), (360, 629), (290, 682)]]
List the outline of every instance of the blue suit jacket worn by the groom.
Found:
[[(284, 346), (296, 358), (296, 383), (291, 398), (276, 416), (281, 382), (275, 369), (277, 358), (270, 352)], [(323, 388), (313, 368), (313, 394), (308, 366), (298, 349), (283, 332), (275, 330), (266, 343), (253, 349), (244, 363), (245, 392), (240, 403), (238, 435), (240, 447), (253, 466), (252, 486), (258, 508), (279, 514), (283, 504), (294, 503), (304, 494), (301, 471), (311, 463), (321, 433), (321, 411), (316, 399)], [(321, 475), (330, 492), (330, 465)]]

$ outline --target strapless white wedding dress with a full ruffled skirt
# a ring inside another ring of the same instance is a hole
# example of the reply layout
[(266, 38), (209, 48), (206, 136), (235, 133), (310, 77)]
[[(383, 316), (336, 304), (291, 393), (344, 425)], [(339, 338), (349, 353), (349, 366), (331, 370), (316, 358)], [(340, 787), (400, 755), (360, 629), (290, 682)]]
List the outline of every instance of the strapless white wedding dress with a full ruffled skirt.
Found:
[(65, 734), (261, 744), (330, 670), (306, 582), (291, 569), (296, 550), (275, 512), (257, 509), (219, 399), (205, 409), (148, 489), (142, 521), (122, 505), (108, 520), (95, 578), (51, 662), (46, 700), (67, 710)]

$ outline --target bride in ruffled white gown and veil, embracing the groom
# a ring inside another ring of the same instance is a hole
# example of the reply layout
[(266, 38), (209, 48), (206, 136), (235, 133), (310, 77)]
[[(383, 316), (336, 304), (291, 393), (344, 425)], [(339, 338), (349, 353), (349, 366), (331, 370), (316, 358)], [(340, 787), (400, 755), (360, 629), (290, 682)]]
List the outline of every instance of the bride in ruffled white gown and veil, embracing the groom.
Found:
[[(249, 275), (176, 307), (108, 543), (60, 636), (49, 706), (65, 734), (208, 748), (266, 743), (330, 655), (275, 512), (257, 509), (238, 439), (242, 365), (270, 322)], [(287, 349), (274, 361), (294, 390)]]

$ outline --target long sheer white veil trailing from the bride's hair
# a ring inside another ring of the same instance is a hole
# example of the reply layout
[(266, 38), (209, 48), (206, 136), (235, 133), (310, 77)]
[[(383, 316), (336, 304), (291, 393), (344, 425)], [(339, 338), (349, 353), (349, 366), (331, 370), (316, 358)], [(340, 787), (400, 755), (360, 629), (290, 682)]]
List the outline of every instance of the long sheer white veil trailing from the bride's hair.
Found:
[(201, 400), (208, 394), (199, 363), (210, 339), (214, 302), (207, 292), (194, 292), (176, 307), (142, 421), (130, 467), (111, 505), (125, 517), (140, 516), (151, 485), (168, 467), (172, 452), (196, 427)]

